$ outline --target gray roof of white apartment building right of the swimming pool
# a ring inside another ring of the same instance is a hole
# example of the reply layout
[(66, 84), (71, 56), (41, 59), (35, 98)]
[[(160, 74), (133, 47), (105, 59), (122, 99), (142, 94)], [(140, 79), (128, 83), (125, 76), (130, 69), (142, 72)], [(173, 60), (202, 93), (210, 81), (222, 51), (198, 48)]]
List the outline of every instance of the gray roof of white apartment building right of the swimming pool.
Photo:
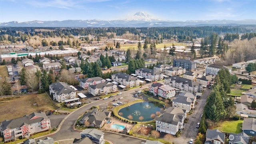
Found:
[(168, 124), (174, 124), (178, 125), (179, 121), (183, 119), (183, 116), (178, 116), (176, 114), (169, 114), (169, 113), (164, 113), (159, 117), (156, 117), (157, 121), (160, 122), (166, 122)]

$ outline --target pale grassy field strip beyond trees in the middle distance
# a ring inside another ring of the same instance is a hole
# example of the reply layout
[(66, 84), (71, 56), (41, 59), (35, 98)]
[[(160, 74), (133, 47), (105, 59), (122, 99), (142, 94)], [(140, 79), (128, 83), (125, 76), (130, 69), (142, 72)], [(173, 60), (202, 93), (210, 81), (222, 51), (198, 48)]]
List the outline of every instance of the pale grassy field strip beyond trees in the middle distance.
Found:
[[(173, 43), (175, 46), (187, 46), (186, 44), (184, 43), (178, 43), (178, 42), (174, 42)], [(172, 43), (161, 43), (161, 44), (157, 44), (156, 45), (156, 48), (164, 48), (164, 45), (166, 45), (167, 47), (168, 46), (172, 46)], [(121, 50), (127, 50), (128, 48), (130, 49), (133, 49), (134, 50), (137, 50), (138, 49), (138, 44), (122, 44), (121, 45)], [(143, 44), (142, 44), (143, 46)], [(150, 47), (150, 45), (148, 44), (148, 48)]]

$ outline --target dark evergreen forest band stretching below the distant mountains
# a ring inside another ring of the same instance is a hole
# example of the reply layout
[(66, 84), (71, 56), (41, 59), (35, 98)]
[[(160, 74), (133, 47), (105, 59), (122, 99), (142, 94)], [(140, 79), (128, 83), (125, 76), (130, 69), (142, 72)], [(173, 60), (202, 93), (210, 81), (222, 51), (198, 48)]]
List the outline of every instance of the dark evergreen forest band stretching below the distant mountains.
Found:
[[(48, 31), (37, 31), (39, 29)], [(19, 36), (18, 32), (29, 36), (40, 35), (43, 37), (53, 36), (102, 36), (114, 38), (122, 36), (129, 32), (138, 35), (142, 39), (149, 38), (178, 38), (180, 41), (196, 38), (204, 38), (211, 34), (250, 34), (256, 33), (256, 26), (186, 26), (186, 27), (152, 27), (152, 28), (46, 28), (46, 27), (4, 27), (0, 28), (0, 36), (8, 34), (10, 36)]]

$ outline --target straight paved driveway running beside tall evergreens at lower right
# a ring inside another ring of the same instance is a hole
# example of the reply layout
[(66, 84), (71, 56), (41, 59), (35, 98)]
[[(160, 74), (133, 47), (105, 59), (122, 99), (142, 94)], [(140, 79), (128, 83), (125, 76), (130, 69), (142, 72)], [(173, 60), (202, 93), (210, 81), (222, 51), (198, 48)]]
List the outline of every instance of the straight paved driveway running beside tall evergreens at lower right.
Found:
[(188, 122), (186, 123), (186, 127), (182, 130), (182, 134), (179, 138), (174, 138), (173, 141), (175, 144), (189, 144), (190, 139), (195, 139), (198, 134), (198, 128), (196, 128), (196, 124), (200, 122), (201, 115), (204, 110), (204, 106), (206, 104), (206, 99), (210, 94), (210, 89), (204, 89), (204, 92), (200, 99), (196, 99), (198, 102), (196, 108), (192, 115), (188, 115)]

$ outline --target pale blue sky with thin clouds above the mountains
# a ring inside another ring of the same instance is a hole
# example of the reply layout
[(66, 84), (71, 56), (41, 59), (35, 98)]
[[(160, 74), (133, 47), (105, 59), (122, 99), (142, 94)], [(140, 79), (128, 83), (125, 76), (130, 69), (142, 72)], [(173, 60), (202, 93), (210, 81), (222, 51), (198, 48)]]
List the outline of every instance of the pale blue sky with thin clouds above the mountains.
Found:
[(156, 19), (256, 19), (256, 0), (0, 0), (0, 22), (117, 20), (138, 11)]

